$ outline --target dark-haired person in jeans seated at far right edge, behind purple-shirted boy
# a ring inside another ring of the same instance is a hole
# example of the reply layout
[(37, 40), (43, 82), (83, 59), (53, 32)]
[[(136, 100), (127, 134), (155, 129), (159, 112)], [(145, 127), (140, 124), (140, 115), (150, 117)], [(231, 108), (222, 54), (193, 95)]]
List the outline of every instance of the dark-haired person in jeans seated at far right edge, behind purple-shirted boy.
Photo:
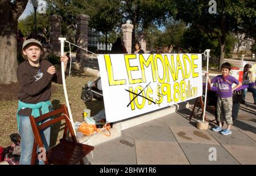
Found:
[[(249, 84), (251, 82), (252, 74), (251, 74), (250, 68), (251, 68), (250, 63), (247, 63), (243, 67), (243, 84)], [(256, 89), (254, 88), (254, 86), (243, 89), (243, 91), (242, 91), (243, 100), (242, 100), (241, 104), (246, 104), (245, 95), (247, 92), (253, 93), (254, 105), (256, 105)]]

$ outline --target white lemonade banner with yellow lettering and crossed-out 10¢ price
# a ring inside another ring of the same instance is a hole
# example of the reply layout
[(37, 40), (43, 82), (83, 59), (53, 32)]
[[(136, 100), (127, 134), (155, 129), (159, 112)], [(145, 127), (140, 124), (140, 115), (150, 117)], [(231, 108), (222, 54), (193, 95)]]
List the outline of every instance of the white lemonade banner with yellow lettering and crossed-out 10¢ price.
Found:
[(100, 54), (107, 121), (201, 96), (201, 60), (201, 54)]

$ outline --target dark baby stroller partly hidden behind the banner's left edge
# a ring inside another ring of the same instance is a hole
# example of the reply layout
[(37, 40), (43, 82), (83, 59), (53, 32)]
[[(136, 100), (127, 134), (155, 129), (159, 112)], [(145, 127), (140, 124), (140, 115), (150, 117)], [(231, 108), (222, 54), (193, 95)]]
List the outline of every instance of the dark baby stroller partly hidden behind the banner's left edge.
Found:
[(101, 78), (97, 78), (94, 81), (88, 81), (84, 87), (82, 87), (81, 99), (84, 102), (91, 101), (92, 98), (96, 100), (102, 100), (102, 87), (101, 87)]

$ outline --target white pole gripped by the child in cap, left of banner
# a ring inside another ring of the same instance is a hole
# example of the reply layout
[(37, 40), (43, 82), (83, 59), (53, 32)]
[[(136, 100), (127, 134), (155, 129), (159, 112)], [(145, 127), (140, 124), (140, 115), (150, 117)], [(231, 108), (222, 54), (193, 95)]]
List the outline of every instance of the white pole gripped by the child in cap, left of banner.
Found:
[[(64, 42), (65, 42), (66, 38), (59, 37), (59, 40), (60, 40), (60, 55), (63, 56), (64, 55)], [(67, 93), (66, 82), (65, 82), (65, 71), (64, 71), (64, 63), (63, 62), (61, 62), (61, 75), (62, 75), (63, 89), (64, 89), (66, 105), (68, 108), (69, 119), (71, 121), (73, 131), (75, 132), (75, 136), (76, 136), (76, 128), (75, 128), (75, 125), (73, 122), (73, 117), (72, 117), (72, 113), (71, 113), (71, 109), (70, 109), (69, 101), (68, 101), (68, 93)]]

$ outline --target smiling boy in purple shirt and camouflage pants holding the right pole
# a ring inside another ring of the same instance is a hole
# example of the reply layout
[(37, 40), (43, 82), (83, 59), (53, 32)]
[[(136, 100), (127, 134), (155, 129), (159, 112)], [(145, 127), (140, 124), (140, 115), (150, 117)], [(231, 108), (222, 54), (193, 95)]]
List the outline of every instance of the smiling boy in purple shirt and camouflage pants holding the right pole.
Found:
[[(232, 121), (232, 106), (233, 106), (233, 91), (238, 87), (241, 87), (240, 83), (236, 78), (229, 75), (231, 65), (228, 62), (225, 62), (221, 65), (222, 75), (214, 77), (212, 80), (209, 78), (209, 74), (206, 73), (205, 76), (208, 76), (208, 83), (217, 83), (218, 88), (218, 100), (217, 100), (217, 121), (218, 126), (212, 128), (213, 131), (221, 131), (222, 135), (230, 135), (232, 131), (230, 130), (233, 121)], [(236, 87), (232, 88), (232, 84), (237, 84)], [(222, 122), (224, 122), (224, 117), (228, 127), (222, 129)]]

